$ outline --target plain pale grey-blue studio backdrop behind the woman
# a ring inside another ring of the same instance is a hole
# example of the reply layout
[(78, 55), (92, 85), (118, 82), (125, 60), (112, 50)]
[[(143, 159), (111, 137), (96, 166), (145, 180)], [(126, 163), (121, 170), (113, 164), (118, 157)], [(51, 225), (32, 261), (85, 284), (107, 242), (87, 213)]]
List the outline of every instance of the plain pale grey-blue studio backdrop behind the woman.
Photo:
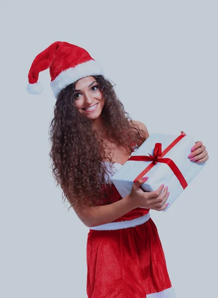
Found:
[(151, 218), (177, 298), (218, 297), (217, 1), (4, 1), (0, 10), (0, 297), (87, 297), (89, 229), (52, 176), (49, 70), (42, 94), (26, 91), (34, 58), (58, 40), (101, 63), (150, 134), (184, 131), (206, 146), (206, 166)]

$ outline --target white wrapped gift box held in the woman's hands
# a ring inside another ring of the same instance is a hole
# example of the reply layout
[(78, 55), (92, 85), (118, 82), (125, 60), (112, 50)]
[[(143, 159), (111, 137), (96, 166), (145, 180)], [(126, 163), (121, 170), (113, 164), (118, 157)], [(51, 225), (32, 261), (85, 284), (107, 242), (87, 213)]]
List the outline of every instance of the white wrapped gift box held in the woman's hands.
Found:
[[(150, 134), (130, 158), (138, 155), (153, 155), (156, 143), (162, 144), (161, 147), (163, 152), (174, 140), (179, 140), (179, 138), (180, 136), (178, 135)], [(191, 153), (190, 150), (194, 144), (195, 141), (191, 136), (182, 136), (181, 140), (179, 140), (176, 145), (174, 145), (164, 156), (161, 156), (162, 158), (170, 158), (173, 160), (188, 185), (206, 164), (205, 162), (196, 163), (195, 161), (190, 161), (188, 158), (188, 155)], [(151, 163), (153, 164), (153, 161), (135, 161), (128, 159), (112, 176), (111, 180), (122, 198), (131, 192), (134, 180)], [(184, 190), (184, 185), (181, 185), (170, 166), (166, 163), (157, 162), (142, 177), (148, 177), (148, 180), (142, 184), (142, 188), (145, 191), (154, 191), (159, 188), (161, 184), (164, 184), (164, 187), (168, 186), (170, 194), (166, 203), (169, 203), (169, 205), (162, 211), (167, 211)]]

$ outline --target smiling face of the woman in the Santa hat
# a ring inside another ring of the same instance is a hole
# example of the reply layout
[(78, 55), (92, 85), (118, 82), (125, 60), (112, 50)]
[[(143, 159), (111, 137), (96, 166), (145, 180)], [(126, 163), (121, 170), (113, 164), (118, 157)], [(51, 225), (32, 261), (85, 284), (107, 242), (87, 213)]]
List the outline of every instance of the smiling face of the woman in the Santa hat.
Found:
[[(104, 106), (103, 94), (93, 76), (80, 78), (75, 83), (75, 107), (84, 116), (96, 119)], [(87, 109), (91, 108), (93, 109)]]

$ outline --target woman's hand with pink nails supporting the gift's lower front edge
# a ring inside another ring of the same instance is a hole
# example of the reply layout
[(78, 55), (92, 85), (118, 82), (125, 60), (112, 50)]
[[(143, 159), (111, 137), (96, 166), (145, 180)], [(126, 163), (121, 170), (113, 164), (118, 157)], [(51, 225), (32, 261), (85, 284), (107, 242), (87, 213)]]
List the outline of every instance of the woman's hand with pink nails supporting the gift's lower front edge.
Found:
[(162, 184), (155, 191), (145, 192), (141, 188), (141, 185), (145, 183), (145, 181), (146, 180), (139, 179), (134, 183), (132, 187), (132, 191), (129, 194), (129, 197), (131, 200), (131, 204), (133, 204), (132, 205), (133, 209), (137, 207), (145, 207), (145, 208), (149, 208), (157, 211), (164, 210), (168, 205), (168, 204), (165, 204), (166, 200), (169, 197), (169, 192), (167, 193), (168, 186), (166, 186), (163, 190), (164, 185)]

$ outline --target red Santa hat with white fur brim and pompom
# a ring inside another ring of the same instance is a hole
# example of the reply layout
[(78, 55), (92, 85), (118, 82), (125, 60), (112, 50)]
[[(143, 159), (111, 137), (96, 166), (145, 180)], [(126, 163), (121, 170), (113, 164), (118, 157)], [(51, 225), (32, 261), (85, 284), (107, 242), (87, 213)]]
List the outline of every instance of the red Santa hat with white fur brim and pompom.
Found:
[(65, 41), (56, 41), (34, 59), (28, 74), (29, 93), (42, 93), (43, 85), (38, 77), (40, 72), (48, 68), (55, 98), (62, 89), (79, 78), (104, 74), (101, 65), (86, 50)]

